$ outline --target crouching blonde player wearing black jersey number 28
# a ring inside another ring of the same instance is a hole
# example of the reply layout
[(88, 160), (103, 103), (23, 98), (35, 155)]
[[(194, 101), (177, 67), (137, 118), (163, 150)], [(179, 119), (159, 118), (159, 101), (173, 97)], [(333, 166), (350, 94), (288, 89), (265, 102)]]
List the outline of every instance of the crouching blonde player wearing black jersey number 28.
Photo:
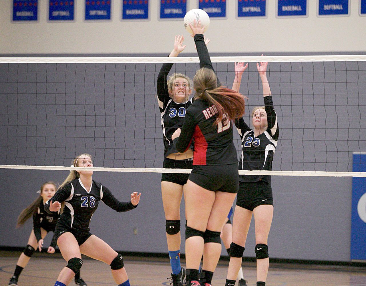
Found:
[[(79, 155), (74, 159), (73, 166), (93, 167), (91, 156)], [(108, 264), (117, 285), (130, 286), (122, 255), (91, 234), (89, 223), (99, 201), (117, 212), (126, 212), (137, 207), (141, 193), (133, 192), (131, 201), (120, 202), (108, 188), (94, 181), (92, 175), (92, 170), (72, 170), (55, 195), (45, 203), (44, 209), (48, 213), (58, 212), (61, 202), (65, 203), (63, 215), (56, 224), (55, 239), (67, 265), (61, 270), (55, 286), (65, 286), (71, 282), (83, 264), (81, 254)]]

